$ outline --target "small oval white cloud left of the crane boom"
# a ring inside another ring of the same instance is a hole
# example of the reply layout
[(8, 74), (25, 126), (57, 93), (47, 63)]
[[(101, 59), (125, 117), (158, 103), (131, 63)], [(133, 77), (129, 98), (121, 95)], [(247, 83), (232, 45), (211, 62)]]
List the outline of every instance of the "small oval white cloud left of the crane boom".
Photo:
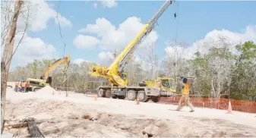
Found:
[(91, 49), (99, 43), (99, 40), (93, 36), (84, 36), (79, 34), (74, 38), (73, 43), (78, 49)]

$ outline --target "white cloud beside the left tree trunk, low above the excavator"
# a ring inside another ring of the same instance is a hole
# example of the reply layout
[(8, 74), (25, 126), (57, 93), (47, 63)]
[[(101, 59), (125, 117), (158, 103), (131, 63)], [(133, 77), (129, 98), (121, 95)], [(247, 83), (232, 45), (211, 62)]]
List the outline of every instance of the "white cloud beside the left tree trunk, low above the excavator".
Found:
[[(20, 39), (21, 35), (15, 36), (14, 49), (16, 49)], [(58, 58), (58, 53), (56, 52), (54, 46), (43, 42), (43, 40), (40, 38), (32, 38), (25, 34), (24, 39), (17, 48), (12, 61), (14, 62), (14, 65), (21, 64), (21, 66), (25, 66), (34, 59), (42, 60), (43, 58)]]

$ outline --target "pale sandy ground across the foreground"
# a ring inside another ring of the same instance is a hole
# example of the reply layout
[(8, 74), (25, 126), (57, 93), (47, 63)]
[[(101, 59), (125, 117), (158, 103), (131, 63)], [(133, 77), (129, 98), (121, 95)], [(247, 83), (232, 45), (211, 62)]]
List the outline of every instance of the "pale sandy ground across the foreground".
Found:
[[(140, 103), (120, 99), (98, 98), (84, 94), (55, 92), (52, 88), (36, 93), (15, 93), (8, 88), (5, 119), (28, 117), (45, 121), (39, 124), (45, 136), (169, 137), (169, 136), (256, 136), (255, 114), (208, 108)], [(5, 128), (17, 133), (19, 129)], [(21, 136), (27, 136), (27, 128)]]

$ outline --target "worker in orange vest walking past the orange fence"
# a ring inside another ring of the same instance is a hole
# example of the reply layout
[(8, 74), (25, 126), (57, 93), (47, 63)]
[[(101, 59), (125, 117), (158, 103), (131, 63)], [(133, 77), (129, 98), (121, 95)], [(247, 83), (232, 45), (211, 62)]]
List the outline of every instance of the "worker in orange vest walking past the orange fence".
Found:
[(194, 107), (189, 101), (189, 86), (188, 86), (188, 79), (187, 78), (182, 78), (180, 84), (182, 86), (182, 97), (179, 100), (179, 106), (177, 108), (177, 111), (180, 111), (182, 109), (183, 103), (187, 104), (191, 108), (191, 112), (194, 111)]

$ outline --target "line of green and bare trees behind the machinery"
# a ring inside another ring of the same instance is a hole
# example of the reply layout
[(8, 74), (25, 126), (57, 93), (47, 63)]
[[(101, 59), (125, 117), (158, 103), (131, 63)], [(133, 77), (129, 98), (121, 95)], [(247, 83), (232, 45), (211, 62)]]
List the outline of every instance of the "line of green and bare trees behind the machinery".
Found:
[[(213, 47), (207, 54), (195, 52), (194, 58), (185, 59), (165, 58), (159, 67), (150, 65), (150, 69), (145, 70), (141, 63), (131, 59), (126, 67), (128, 72), (128, 83), (130, 86), (137, 86), (148, 74), (156, 77), (173, 77), (191, 76), (191, 91), (195, 95), (210, 95), (214, 98), (220, 98), (221, 94), (229, 94), (231, 99), (242, 99), (256, 101), (256, 45), (248, 41), (235, 46), (236, 52), (233, 53), (228, 47)], [(120, 52), (120, 51), (119, 51)], [(118, 51), (113, 52), (116, 57)], [(152, 52), (150, 52), (152, 53)], [(155, 64), (152, 54), (148, 64)], [(155, 60), (157, 60), (155, 58)], [(29, 77), (40, 78), (44, 70), (55, 59), (43, 59), (42, 61), (34, 60), (33, 63), (25, 67), (16, 67), (9, 73), (8, 81), (18, 79), (26, 80)], [(111, 61), (109, 61), (110, 63)], [(92, 62), (84, 61), (81, 64), (71, 63), (67, 70), (67, 77), (62, 74), (62, 66), (56, 67), (51, 73), (52, 86), (68, 85), (72, 90), (77, 89), (94, 89), (100, 83), (88, 82), (88, 71), (96, 65)], [(154, 71), (153, 71), (154, 70)]]

